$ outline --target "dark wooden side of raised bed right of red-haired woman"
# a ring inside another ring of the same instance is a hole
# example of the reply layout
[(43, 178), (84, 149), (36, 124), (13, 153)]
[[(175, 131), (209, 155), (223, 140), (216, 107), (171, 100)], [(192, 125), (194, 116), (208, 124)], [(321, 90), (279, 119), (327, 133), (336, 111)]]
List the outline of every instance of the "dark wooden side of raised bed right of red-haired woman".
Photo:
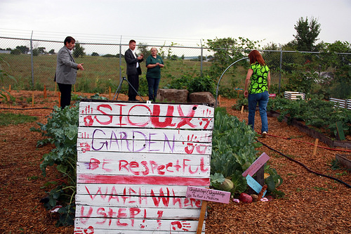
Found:
[[(269, 117), (279, 117), (279, 115), (280, 113), (274, 110), (270, 110), (269, 112), (267, 112), (267, 116)], [(288, 119), (287, 117), (284, 117), (285, 122), (287, 121), (287, 119)], [(342, 147), (342, 148), (351, 149), (351, 141), (333, 141), (328, 136), (325, 136), (324, 134), (309, 128), (308, 126), (306, 126), (305, 124), (303, 124), (302, 122), (296, 119), (293, 119), (291, 121), (291, 125), (296, 126), (298, 130), (308, 134), (309, 136), (312, 136), (313, 138), (318, 138), (319, 141), (326, 143), (326, 145), (330, 147)]]

